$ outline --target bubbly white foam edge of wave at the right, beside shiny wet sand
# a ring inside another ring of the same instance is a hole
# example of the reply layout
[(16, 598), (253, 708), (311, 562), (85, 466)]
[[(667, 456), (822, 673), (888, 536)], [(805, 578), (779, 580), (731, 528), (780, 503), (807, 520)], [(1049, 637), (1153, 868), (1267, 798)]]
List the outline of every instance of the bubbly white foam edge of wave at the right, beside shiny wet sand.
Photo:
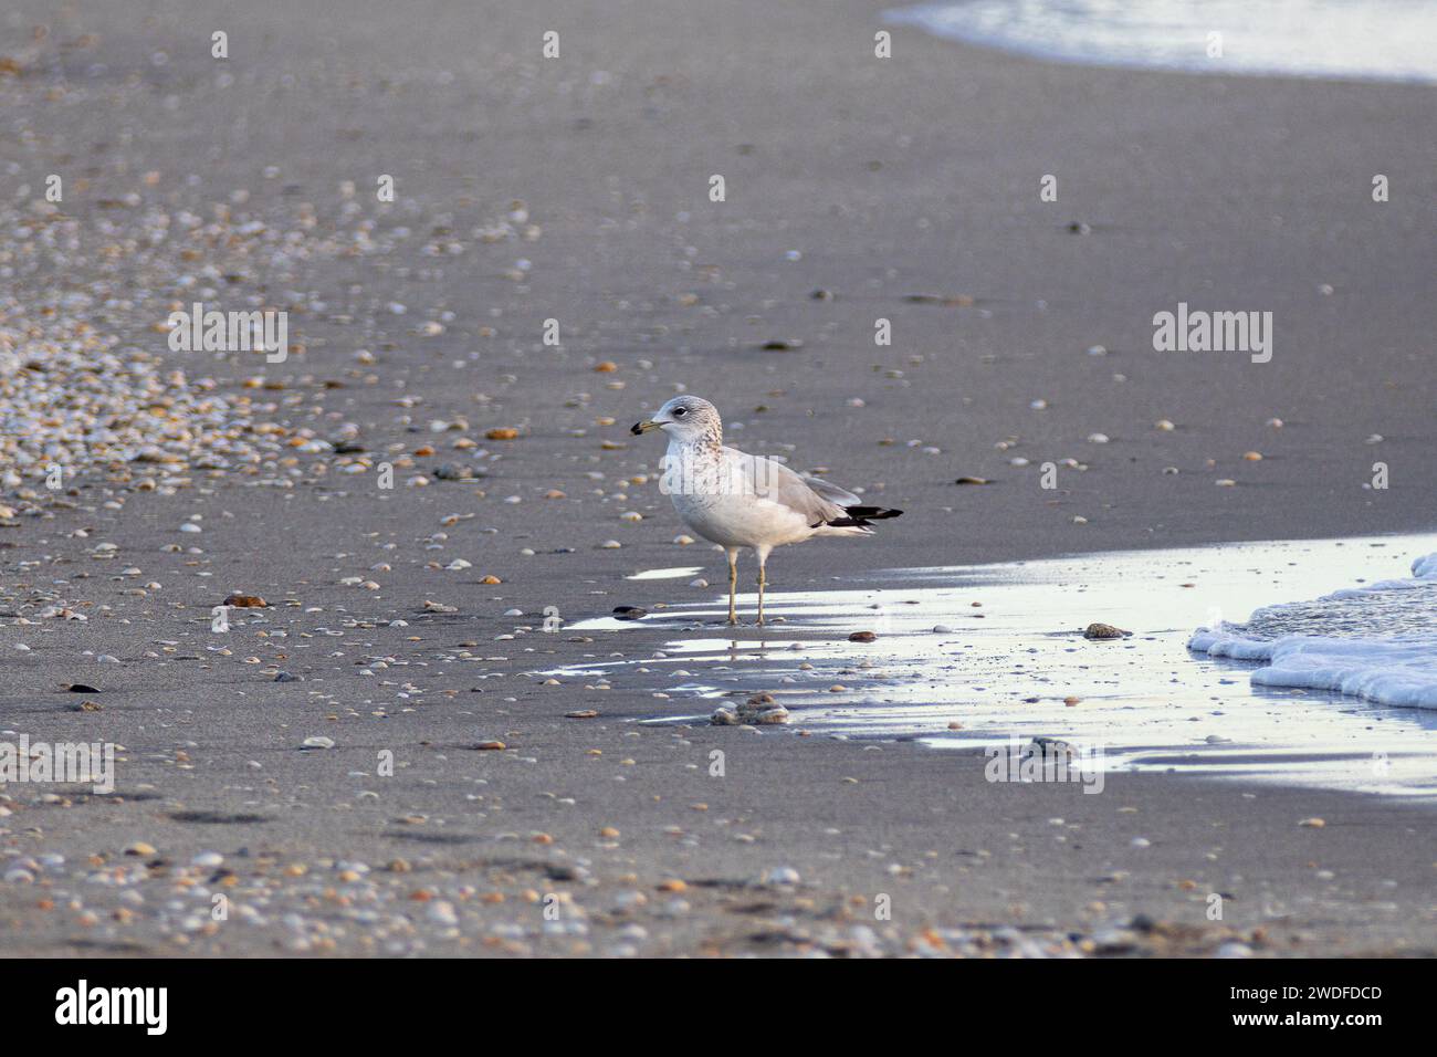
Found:
[(1437, 709), (1437, 554), (1414, 561), (1411, 580), (1269, 605), (1244, 624), (1200, 628), (1188, 649), (1263, 662), (1252, 674), (1257, 686)]

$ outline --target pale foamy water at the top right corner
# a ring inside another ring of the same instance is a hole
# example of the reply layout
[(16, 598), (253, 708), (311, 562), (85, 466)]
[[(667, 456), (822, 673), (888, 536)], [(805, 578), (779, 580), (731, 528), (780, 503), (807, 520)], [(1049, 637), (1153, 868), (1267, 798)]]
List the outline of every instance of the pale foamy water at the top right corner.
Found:
[(956, 0), (885, 17), (1059, 62), (1437, 82), (1431, 0)]

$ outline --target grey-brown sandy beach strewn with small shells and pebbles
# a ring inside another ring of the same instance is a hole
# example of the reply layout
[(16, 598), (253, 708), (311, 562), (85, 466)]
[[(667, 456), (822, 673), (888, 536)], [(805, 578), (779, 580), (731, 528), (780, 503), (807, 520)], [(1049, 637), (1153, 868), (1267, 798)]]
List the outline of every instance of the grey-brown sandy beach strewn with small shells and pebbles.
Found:
[[(1426, 798), (996, 784), (980, 748), (806, 729), (826, 679), (706, 656), (694, 683), (790, 695), (786, 726), (713, 726), (654, 663), (698, 634), (665, 608), (726, 634), (723, 554), (678, 542), (664, 446), (628, 429), (677, 387), (905, 512), (776, 552), (789, 618), (734, 633), (825, 647), (855, 697), (882, 631), (849, 644), (872, 614), (806, 621), (798, 592), (1437, 551), (1431, 86), (1046, 63), (882, 12), (10, 4), (0, 736), (114, 743), (116, 787), (0, 790), (0, 951), (1437, 953)], [(174, 351), (194, 303), (287, 312), (286, 358)], [(1180, 303), (1270, 312), (1270, 361), (1155, 351)], [(628, 580), (664, 568), (698, 571)], [(1168, 587), (1171, 614), (1111, 618), (1190, 631)], [(220, 630), (231, 595), (266, 605)], [(651, 617), (582, 627), (618, 605)], [(1025, 627), (1105, 618), (1062, 592)]]

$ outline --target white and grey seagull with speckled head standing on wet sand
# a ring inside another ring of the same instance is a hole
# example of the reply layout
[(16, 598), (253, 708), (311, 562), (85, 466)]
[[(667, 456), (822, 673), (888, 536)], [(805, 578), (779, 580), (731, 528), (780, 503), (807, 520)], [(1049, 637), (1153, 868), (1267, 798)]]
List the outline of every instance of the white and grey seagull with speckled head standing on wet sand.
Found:
[(698, 397), (674, 397), (652, 418), (635, 423), (634, 436), (668, 434), (660, 489), (694, 532), (729, 555), (729, 623), (737, 624), (734, 591), (739, 551), (759, 558), (759, 623), (763, 623), (764, 565), (775, 546), (813, 536), (869, 536), (871, 521), (902, 511), (865, 506), (846, 489), (795, 473), (783, 463), (744, 454), (723, 444), (718, 408)]

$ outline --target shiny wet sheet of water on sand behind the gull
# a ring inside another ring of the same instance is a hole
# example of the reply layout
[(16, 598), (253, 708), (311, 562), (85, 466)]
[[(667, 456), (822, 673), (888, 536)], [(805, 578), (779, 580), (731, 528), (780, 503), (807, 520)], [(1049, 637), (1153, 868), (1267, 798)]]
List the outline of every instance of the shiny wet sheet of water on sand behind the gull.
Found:
[[(783, 621), (766, 628), (723, 626), (727, 595), (642, 621), (570, 624), (658, 627), (671, 640), (644, 657), (596, 657), (549, 674), (660, 695), (645, 722), (706, 722), (718, 703), (766, 690), (792, 720), (766, 731), (964, 749), (1049, 736), (1105, 769), (1427, 798), (1437, 797), (1437, 710), (1253, 685), (1259, 663), (1193, 653), (1188, 640), (1259, 607), (1403, 580), (1433, 551), (1433, 536), (1380, 536), (885, 569), (835, 577), (831, 590), (772, 591), (769, 614)], [(1437, 603), (1437, 591), (1404, 595)], [(740, 597), (747, 620), (754, 603)], [(1334, 621), (1352, 633), (1351, 613)], [(1089, 641), (1091, 623), (1132, 634)], [(848, 641), (855, 631), (878, 637)]]

